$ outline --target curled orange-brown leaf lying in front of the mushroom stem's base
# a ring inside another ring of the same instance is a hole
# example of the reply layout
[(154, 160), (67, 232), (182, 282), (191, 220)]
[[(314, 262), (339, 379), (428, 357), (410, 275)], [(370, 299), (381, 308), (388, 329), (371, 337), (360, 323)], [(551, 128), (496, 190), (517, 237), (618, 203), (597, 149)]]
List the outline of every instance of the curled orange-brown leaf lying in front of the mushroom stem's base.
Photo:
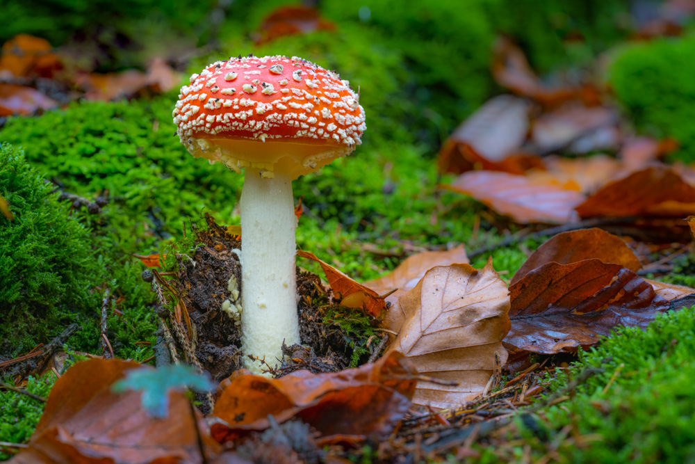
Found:
[(323, 440), (368, 436), (393, 431), (411, 405), (416, 374), (401, 353), (390, 353), (374, 364), (330, 374), (296, 371), (265, 378), (238, 371), (223, 381), (213, 410), (211, 432), (219, 442), (234, 441), (250, 431), (292, 417), (317, 429)]

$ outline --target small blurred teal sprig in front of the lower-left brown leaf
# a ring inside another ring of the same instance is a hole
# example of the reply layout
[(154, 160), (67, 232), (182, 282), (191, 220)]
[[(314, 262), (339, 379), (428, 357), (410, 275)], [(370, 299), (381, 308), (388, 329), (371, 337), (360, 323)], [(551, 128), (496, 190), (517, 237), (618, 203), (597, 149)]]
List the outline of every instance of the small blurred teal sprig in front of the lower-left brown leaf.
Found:
[(147, 414), (165, 419), (169, 412), (169, 391), (186, 387), (204, 393), (212, 390), (213, 383), (208, 374), (200, 374), (188, 365), (168, 365), (158, 369), (138, 367), (126, 371), (126, 377), (111, 385), (111, 391), (141, 391), (142, 407)]

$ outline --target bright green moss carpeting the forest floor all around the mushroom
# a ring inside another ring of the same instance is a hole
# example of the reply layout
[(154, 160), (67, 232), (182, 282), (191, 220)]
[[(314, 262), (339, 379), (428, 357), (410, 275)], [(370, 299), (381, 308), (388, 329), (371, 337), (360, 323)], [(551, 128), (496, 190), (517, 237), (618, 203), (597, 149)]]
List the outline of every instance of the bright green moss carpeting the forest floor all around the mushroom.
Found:
[[(250, 34), (284, 2), (235, 1), (216, 28), (204, 21), (211, 1), (195, 3), (186, 15), (181, 11), (187, 1), (173, 2), (171, 8), (159, 8), (155, 1), (56, 3), (64, 7), (58, 8), (60, 15), (13, 2), (15, 21), (10, 29), (0, 28), (0, 39), (34, 33), (58, 46), (75, 42), (76, 31), (99, 43), (117, 36), (122, 46), (101, 47), (98, 55), (101, 66), (114, 70), (138, 63), (142, 47), (134, 31), (146, 30), (150, 37), (173, 33), (176, 40), (195, 37), (199, 45), (215, 38), (215, 51), (206, 49), (193, 58), (189, 72), (219, 56), (281, 53), (334, 68), (359, 87), (368, 125), (363, 145), (322, 173), (297, 179), (293, 188), (305, 207), (298, 246), (362, 281), (393, 269), (413, 246), (465, 243), (470, 250), (497, 243), (502, 230), (517, 230), (480, 203), (437, 189), (447, 179), (439, 177), (434, 162), (443, 138), (498, 92), (488, 72), (496, 34), (512, 35), (534, 67), (553, 71), (586, 63), (623, 38), (615, 18), (626, 11), (623, 1), (576, 2), (570, 11), (553, 1), (476, 0), (461, 14), (459, 1), (375, 0), (364, 10), (334, 0), (322, 2), (322, 11), (338, 23), (336, 32), (293, 35), (257, 47)], [(94, 19), (87, 23), (83, 18), (90, 11)], [(563, 40), (570, 30), (582, 31), (587, 40)], [(636, 127), (677, 136), (682, 148), (676, 156), (685, 160), (695, 159), (688, 59), (694, 44), (686, 36), (629, 47), (608, 77)], [(243, 179), (186, 153), (173, 136), (175, 99), (172, 93), (131, 102), (75, 102), (39, 117), (4, 122), (0, 195), (16, 216), (14, 223), (0, 216), (0, 349), (6, 358), (47, 342), (74, 320), (81, 330), (69, 345), (97, 353), (106, 288), (122, 313), (111, 315), (108, 323), (117, 356), (149, 358), (152, 350), (138, 342), (154, 342), (154, 296), (132, 254), (158, 253), (181, 241), (183, 221), (196, 221), (203, 212), (220, 224), (238, 224), (235, 207)], [(58, 193), (51, 193), (56, 188), (90, 200), (106, 197), (108, 203), (101, 213), (88, 214), (58, 201)], [(382, 253), (375, 253), (373, 245)], [(496, 269), (511, 278), (538, 245), (528, 241), (494, 250)], [(480, 268), (485, 261), (480, 256), (471, 264)], [(678, 265), (668, 280), (692, 285), (692, 257)], [(318, 273), (315, 266), (302, 266)], [(15, 313), (40, 316), (42, 323), (8, 316)], [(532, 456), (545, 456), (555, 442), (565, 446), (559, 434), (573, 424), (602, 440), (588, 447), (566, 445), (562, 454), (571, 462), (689, 462), (695, 452), (688, 435), (695, 412), (689, 391), (695, 375), (693, 320), (692, 311), (670, 314), (644, 333), (622, 330), (582, 353), (577, 365), (560, 372), (555, 388), (587, 367), (600, 367), (604, 374), (580, 385), (571, 401), (547, 411), (540, 420), (542, 436), (518, 424), (518, 436), (530, 444)], [(620, 365), (619, 376), (603, 394)], [(31, 380), (28, 390), (45, 396), (49, 384)], [(31, 433), (40, 415), (31, 401), (0, 395), (0, 441), (22, 441)], [(8, 431), (2, 424), (17, 426)], [(478, 451), (480, 462), (521, 461), (524, 452), (521, 447), (505, 456)]]

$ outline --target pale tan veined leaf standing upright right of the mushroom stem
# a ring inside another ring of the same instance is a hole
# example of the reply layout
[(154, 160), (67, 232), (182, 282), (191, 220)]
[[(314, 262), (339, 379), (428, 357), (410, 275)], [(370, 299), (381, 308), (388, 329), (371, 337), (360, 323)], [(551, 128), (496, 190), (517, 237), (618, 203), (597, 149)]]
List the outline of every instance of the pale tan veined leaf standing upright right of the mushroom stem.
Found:
[(468, 264), (437, 266), (402, 295), (386, 317), (398, 332), (391, 350), (402, 351), (418, 372), (458, 385), (420, 382), (413, 402), (452, 408), (483, 392), (507, 351), (509, 293), (490, 259), (477, 271)]

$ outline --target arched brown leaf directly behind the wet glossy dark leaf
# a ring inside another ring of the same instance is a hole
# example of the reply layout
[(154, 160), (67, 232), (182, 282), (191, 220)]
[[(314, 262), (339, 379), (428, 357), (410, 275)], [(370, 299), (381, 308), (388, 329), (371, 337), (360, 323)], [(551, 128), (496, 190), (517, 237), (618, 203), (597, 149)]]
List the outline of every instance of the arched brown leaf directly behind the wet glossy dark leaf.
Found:
[(516, 271), (509, 285), (514, 285), (530, 271), (549, 262), (571, 264), (592, 258), (605, 263), (620, 264), (633, 272), (639, 271), (642, 267), (635, 253), (632, 253), (620, 237), (598, 228), (573, 230), (557, 234), (539, 246)]

